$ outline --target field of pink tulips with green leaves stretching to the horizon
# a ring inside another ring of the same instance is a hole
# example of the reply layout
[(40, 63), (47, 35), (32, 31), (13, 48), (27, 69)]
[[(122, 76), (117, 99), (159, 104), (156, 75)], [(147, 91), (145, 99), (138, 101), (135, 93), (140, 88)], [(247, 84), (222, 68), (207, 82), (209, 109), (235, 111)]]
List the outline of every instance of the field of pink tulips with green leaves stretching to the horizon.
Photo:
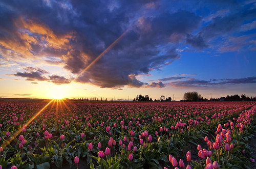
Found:
[(255, 102), (0, 102), (1, 168), (254, 168)]

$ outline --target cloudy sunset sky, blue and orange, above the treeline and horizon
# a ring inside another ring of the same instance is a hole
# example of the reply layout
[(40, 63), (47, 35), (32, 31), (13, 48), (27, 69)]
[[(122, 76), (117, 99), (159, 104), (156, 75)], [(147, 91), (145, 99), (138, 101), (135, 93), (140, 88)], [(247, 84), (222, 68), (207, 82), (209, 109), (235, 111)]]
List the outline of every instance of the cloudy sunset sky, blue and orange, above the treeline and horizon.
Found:
[(1, 1), (0, 97), (256, 96), (256, 1)]

